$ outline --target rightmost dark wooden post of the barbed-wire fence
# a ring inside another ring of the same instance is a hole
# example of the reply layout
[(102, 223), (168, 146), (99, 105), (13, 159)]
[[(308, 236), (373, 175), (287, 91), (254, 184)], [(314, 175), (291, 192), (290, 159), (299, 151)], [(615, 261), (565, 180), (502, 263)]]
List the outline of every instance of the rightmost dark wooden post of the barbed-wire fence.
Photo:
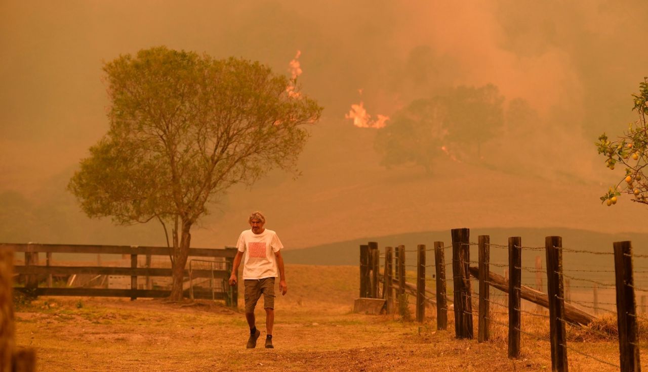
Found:
[(640, 372), (639, 333), (632, 276), (632, 245), (629, 241), (614, 242), (614, 274), (621, 372)]

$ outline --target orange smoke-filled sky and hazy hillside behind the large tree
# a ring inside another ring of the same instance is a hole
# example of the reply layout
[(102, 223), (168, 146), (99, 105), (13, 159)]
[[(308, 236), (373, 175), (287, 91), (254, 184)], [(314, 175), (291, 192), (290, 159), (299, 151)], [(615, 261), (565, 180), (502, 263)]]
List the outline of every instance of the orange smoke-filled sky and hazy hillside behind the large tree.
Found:
[[(87, 220), (65, 191), (109, 126), (103, 63), (157, 45), (287, 75), (299, 51), (298, 82), (325, 107), (303, 175), (273, 172), (231, 190), (194, 245), (235, 243), (257, 208), (297, 247), (463, 226), (648, 232), (624, 217), (642, 220), (642, 206), (601, 207), (597, 197), (621, 175), (594, 147), (635, 118), (647, 19), (643, 0), (2, 1), (0, 241), (163, 243), (157, 226)], [(371, 120), (393, 117), (413, 100), (487, 84), (511, 119), (483, 159), (457, 150), (432, 175), (380, 166), (380, 129), (354, 127), (349, 115), (362, 102)], [(511, 102), (530, 114), (514, 115)]]

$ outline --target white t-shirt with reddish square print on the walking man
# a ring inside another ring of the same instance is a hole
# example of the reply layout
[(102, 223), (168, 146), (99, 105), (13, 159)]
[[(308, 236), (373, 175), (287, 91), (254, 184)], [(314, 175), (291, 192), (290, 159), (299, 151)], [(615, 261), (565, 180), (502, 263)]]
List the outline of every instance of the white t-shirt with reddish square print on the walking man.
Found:
[(245, 230), (238, 237), (238, 252), (245, 252), (243, 279), (277, 278), (277, 257), (283, 245), (277, 233), (267, 228), (261, 234)]

